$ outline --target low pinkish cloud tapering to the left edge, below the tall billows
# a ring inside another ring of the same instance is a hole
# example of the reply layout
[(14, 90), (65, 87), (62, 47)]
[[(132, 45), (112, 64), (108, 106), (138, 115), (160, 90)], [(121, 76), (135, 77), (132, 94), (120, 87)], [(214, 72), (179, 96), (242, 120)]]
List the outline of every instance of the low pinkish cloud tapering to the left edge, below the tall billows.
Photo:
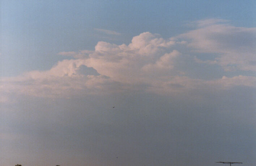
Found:
[(18, 77), (2, 78), (0, 89), (4, 93), (38, 97), (71, 97), (95, 93), (89, 82), (98, 81), (97, 88), (112, 82), (84, 64), (81, 59), (63, 60), (47, 71), (30, 71)]

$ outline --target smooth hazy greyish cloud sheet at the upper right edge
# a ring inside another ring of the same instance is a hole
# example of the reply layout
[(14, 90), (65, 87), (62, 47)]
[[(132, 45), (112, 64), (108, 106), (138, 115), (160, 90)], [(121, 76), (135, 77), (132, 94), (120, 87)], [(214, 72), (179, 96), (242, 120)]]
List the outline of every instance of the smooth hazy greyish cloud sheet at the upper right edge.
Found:
[[(219, 64), (225, 70), (230, 67), (256, 71), (256, 28), (235, 27), (221, 24), (222, 20), (197, 21), (198, 29), (179, 35), (187, 39), (188, 46), (201, 53), (216, 53), (218, 57), (208, 64)], [(198, 61), (197, 62), (202, 62)]]

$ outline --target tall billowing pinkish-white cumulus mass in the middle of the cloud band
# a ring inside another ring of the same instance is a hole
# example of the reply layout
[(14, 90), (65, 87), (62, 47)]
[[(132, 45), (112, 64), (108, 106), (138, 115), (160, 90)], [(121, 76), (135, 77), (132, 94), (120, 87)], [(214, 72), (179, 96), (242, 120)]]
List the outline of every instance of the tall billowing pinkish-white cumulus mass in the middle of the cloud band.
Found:
[(169, 51), (174, 44), (174, 41), (165, 40), (150, 32), (133, 37), (129, 45), (98, 42), (95, 52), (86, 59), (86, 65), (118, 82), (144, 82), (148, 75), (144, 67), (146, 65), (173, 68), (171, 57), (178, 54), (177, 51)]

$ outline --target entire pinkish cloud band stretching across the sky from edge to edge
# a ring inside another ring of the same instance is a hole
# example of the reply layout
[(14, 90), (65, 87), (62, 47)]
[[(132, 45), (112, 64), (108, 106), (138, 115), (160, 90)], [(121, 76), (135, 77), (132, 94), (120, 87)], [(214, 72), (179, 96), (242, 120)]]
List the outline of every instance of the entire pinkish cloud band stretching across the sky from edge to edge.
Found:
[[(60, 52), (74, 59), (59, 61), (47, 71), (2, 78), (0, 90), (4, 96), (16, 93), (72, 97), (139, 88), (160, 94), (199, 88), (255, 88), (256, 77), (239, 74), (239, 71), (256, 71), (256, 28), (235, 27), (216, 19), (192, 24), (196, 25), (195, 30), (169, 39), (144, 32), (133, 37), (128, 45), (98, 42), (94, 51)], [(95, 30), (121, 35), (115, 31)], [(204, 53), (204, 58), (197, 56)], [(214, 57), (207, 58), (207, 54), (214, 54)], [(194, 78), (185, 68), (195, 70), (197, 64), (215, 65), (225, 72), (236, 71), (237, 75), (210, 80)], [(4, 96), (0, 102), (7, 102), (8, 97)]]

